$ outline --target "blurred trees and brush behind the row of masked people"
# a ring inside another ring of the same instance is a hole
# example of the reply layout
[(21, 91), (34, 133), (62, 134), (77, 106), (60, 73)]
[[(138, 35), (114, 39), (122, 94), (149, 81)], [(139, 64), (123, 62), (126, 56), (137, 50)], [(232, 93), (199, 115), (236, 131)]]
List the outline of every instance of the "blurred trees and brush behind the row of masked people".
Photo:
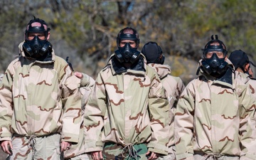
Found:
[(96, 78), (126, 26), (139, 32), (140, 46), (156, 41), (172, 75), (187, 83), (210, 36), (218, 34), (228, 53), (242, 49), (255, 60), (256, 0), (1, 0), (0, 70), (18, 55), (26, 24), (43, 18), (55, 53), (75, 70)]

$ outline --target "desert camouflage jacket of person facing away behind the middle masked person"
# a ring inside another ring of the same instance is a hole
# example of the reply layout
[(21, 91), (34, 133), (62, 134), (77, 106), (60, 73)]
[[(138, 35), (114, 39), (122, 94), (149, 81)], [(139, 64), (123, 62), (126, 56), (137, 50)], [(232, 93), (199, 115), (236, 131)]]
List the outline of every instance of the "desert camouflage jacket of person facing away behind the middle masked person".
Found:
[[(169, 144), (168, 146), (174, 145), (174, 113), (176, 110), (176, 105), (178, 102), (178, 97), (181, 95), (181, 92), (184, 90), (184, 84), (181, 78), (174, 77), (171, 74), (171, 67), (169, 65), (161, 65), (155, 63), (149, 63), (149, 66), (154, 68), (161, 79), (161, 82), (166, 90), (166, 97), (169, 101), (169, 130), (166, 131), (169, 133)], [(166, 127), (167, 128), (167, 127)]]

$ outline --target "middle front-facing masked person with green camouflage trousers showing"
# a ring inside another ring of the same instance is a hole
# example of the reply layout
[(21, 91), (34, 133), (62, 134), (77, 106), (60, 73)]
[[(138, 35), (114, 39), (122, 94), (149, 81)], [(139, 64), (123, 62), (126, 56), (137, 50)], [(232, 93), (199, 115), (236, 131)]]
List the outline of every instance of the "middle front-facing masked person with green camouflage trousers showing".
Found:
[(157, 159), (168, 151), (164, 87), (137, 50), (137, 31), (119, 31), (117, 46), (85, 107), (85, 150), (95, 160)]

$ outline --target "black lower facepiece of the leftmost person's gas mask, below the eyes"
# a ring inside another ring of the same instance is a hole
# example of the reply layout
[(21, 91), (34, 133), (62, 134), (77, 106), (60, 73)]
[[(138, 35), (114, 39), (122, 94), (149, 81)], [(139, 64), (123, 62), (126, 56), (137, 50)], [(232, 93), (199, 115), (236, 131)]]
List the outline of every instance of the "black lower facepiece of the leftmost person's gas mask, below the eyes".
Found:
[(38, 36), (35, 36), (31, 41), (26, 40), (23, 43), (23, 50), (32, 58), (40, 58), (47, 53), (49, 48), (52, 48), (51, 44), (46, 40), (40, 40)]

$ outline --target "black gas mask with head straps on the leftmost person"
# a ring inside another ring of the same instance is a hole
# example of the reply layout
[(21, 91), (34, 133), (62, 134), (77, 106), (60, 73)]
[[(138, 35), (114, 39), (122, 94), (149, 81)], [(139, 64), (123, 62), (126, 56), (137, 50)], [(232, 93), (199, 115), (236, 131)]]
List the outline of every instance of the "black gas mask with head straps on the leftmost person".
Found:
[[(41, 26), (31, 26), (31, 24), (35, 22), (41, 23)], [(41, 58), (51, 50), (52, 45), (47, 41), (50, 28), (46, 29), (44, 26), (47, 26), (46, 22), (36, 17), (28, 23), (28, 27), (25, 31), (25, 42), (23, 43), (23, 50), (26, 56), (31, 58)], [(31, 33), (43, 33), (45, 39), (41, 40), (38, 36), (34, 36), (32, 40), (28, 40), (28, 36)]]

